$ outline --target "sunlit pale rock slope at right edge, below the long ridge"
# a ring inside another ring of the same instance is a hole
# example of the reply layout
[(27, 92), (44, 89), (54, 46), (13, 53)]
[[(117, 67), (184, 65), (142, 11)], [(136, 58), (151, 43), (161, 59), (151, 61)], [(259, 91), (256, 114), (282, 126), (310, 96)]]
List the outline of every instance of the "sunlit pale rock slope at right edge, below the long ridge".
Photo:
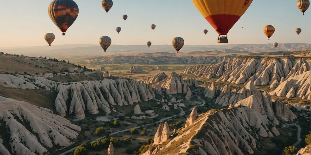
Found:
[(288, 78), (270, 94), (311, 100), (311, 71)]

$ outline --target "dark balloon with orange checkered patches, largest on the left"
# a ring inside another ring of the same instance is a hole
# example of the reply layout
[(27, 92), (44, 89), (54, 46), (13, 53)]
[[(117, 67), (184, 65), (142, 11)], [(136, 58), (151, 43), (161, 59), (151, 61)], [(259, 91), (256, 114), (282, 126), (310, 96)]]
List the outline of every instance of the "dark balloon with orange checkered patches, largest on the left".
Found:
[(79, 8), (73, 0), (53, 0), (48, 8), (53, 23), (66, 35), (67, 29), (77, 19)]

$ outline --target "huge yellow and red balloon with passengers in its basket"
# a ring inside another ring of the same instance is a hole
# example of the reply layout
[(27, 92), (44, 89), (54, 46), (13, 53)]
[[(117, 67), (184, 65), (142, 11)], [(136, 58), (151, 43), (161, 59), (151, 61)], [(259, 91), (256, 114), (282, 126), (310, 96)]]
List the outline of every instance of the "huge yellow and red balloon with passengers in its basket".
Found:
[(253, 0), (192, 0), (192, 2), (218, 32), (217, 42), (228, 42), (227, 33)]

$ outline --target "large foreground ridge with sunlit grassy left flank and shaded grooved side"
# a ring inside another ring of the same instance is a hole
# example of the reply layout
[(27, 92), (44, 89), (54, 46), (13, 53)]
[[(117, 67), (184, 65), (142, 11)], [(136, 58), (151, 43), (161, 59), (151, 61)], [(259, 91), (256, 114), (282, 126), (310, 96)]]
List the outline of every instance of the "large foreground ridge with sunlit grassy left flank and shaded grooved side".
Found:
[(152, 154), (254, 154), (258, 137), (276, 135), (280, 135), (276, 127), (252, 108), (211, 110), (158, 145)]

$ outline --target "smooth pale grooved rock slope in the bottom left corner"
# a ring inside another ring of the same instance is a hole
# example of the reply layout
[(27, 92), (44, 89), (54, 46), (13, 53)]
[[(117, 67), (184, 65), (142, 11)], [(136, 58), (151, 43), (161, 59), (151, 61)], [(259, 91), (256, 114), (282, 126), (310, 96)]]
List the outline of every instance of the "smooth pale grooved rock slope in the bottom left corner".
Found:
[(77, 139), (79, 126), (46, 108), (0, 96), (0, 154), (46, 154)]

